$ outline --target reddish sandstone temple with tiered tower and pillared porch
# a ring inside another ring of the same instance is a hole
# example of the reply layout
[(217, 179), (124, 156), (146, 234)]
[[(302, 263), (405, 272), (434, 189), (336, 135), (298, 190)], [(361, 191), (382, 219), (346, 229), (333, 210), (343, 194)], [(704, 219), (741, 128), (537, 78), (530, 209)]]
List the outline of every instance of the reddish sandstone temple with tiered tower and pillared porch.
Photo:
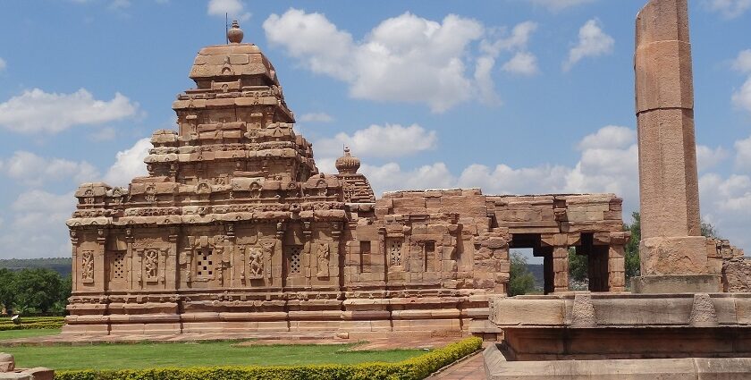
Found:
[(568, 249), (593, 291), (622, 291), (620, 198), (415, 190), (375, 199), (348, 148), (319, 173), (293, 130), (272, 63), (241, 43), (198, 52), (196, 89), (154, 132), (148, 176), (84, 183), (68, 221), (73, 295), (65, 333), (468, 332), (505, 294), (509, 248), (544, 258), (568, 290)]

